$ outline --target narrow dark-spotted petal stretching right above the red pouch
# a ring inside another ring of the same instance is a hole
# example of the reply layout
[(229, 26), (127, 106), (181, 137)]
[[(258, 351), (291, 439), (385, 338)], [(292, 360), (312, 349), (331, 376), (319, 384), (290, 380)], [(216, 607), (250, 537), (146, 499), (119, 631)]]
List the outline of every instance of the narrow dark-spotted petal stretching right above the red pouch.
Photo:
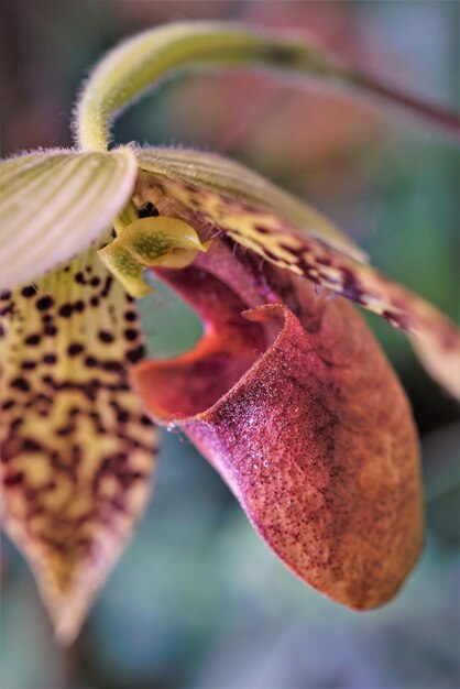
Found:
[(309, 228), (304, 232), (302, 223), (299, 227), (285, 217), (283, 209), (275, 212), (252, 199), (241, 200), (236, 194), (223, 192), (223, 183), (221, 188), (211, 189), (201, 181), (185, 182), (177, 173), (167, 172), (166, 164), (162, 174), (142, 172), (143, 165), (149, 169), (151, 163), (149, 158), (144, 163), (139, 152), (138, 155), (138, 205), (151, 201), (161, 214), (183, 217), (201, 232), (201, 241), (223, 233), (270, 263), (307, 277), (406, 330), (414, 336), (410, 340), (428, 372), (460, 397), (459, 331), (435, 306), (332, 245), (321, 236), (322, 225), (316, 236)]

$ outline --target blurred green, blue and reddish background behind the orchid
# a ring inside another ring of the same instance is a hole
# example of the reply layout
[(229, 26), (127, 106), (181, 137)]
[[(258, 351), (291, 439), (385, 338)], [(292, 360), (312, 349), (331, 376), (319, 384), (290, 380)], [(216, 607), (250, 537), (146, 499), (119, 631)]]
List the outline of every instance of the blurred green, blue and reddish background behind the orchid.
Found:
[[(2, 0), (2, 154), (70, 145), (75, 94), (101, 54), (186, 18), (309, 32), (402, 88), (458, 107), (456, 1)], [(459, 160), (415, 120), (317, 85), (197, 75), (123, 116), (116, 138), (245, 162), (457, 316)], [(199, 336), (196, 317), (164, 292), (141, 308), (156, 356)], [(396, 600), (358, 614), (302, 584), (193, 447), (165, 434), (154, 499), (70, 649), (55, 646), (31, 575), (3, 538), (2, 689), (459, 687), (459, 416), (404, 336), (369, 321), (410, 397), (426, 479), (426, 549)]]

